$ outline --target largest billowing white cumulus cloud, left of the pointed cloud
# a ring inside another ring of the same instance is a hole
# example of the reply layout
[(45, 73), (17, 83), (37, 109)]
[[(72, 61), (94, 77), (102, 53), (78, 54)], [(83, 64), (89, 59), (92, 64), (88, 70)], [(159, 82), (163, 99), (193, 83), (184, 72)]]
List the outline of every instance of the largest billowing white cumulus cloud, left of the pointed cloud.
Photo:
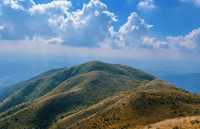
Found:
[(109, 29), (116, 21), (115, 14), (99, 0), (91, 0), (67, 17), (49, 18), (50, 25), (60, 29), (66, 44), (87, 47), (97, 47), (99, 42), (109, 37)]

